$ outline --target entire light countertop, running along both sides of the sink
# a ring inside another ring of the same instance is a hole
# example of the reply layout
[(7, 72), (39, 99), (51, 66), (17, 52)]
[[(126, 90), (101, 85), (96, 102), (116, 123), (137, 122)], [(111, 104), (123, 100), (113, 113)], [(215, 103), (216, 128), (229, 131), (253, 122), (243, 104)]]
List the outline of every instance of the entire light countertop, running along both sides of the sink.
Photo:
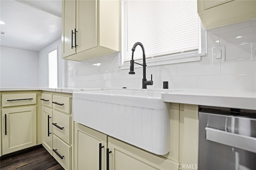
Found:
[[(10, 87), (0, 88), (0, 91), (28, 91), (42, 90), (62, 93), (73, 91), (94, 91), (120, 88), (84, 88), (84, 87)], [(123, 89), (125, 90), (125, 89)], [(215, 107), (229, 107), (256, 110), (256, 92), (215, 89), (130, 89), (160, 91), (165, 102), (186, 103), (192, 105), (205, 105)]]

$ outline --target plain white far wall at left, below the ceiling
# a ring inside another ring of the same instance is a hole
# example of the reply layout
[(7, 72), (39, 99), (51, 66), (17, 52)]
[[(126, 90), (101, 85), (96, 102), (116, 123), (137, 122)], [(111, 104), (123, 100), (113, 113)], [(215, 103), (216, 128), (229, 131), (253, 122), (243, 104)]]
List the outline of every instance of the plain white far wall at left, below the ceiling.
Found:
[(0, 47), (0, 87), (38, 87), (38, 52)]

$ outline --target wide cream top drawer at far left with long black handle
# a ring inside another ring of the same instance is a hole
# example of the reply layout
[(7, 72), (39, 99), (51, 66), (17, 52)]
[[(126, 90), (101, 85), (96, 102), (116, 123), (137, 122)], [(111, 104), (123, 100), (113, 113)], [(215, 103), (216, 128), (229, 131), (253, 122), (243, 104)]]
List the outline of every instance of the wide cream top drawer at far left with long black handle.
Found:
[(2, 95), (2, 107), (36, 104), (36, 93)]

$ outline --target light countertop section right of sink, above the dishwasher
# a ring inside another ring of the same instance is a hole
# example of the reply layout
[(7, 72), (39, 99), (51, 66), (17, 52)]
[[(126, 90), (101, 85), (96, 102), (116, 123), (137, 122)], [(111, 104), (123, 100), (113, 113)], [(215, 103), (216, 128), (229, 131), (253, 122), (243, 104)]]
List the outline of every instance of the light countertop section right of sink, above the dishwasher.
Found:
[(165, 102), (256, 110), (256, 92), (184, 90), (162, 93)]

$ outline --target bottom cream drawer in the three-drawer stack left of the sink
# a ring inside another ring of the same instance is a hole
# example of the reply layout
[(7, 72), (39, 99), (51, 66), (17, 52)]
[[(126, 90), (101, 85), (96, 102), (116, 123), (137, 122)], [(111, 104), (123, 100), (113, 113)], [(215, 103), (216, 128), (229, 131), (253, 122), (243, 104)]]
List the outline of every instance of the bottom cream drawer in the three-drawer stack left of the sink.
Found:
[(60, 163), (65, 170), (71, 169), (71, 146), (63, 142), (60, 138), (53, 135), (53, 157)]

